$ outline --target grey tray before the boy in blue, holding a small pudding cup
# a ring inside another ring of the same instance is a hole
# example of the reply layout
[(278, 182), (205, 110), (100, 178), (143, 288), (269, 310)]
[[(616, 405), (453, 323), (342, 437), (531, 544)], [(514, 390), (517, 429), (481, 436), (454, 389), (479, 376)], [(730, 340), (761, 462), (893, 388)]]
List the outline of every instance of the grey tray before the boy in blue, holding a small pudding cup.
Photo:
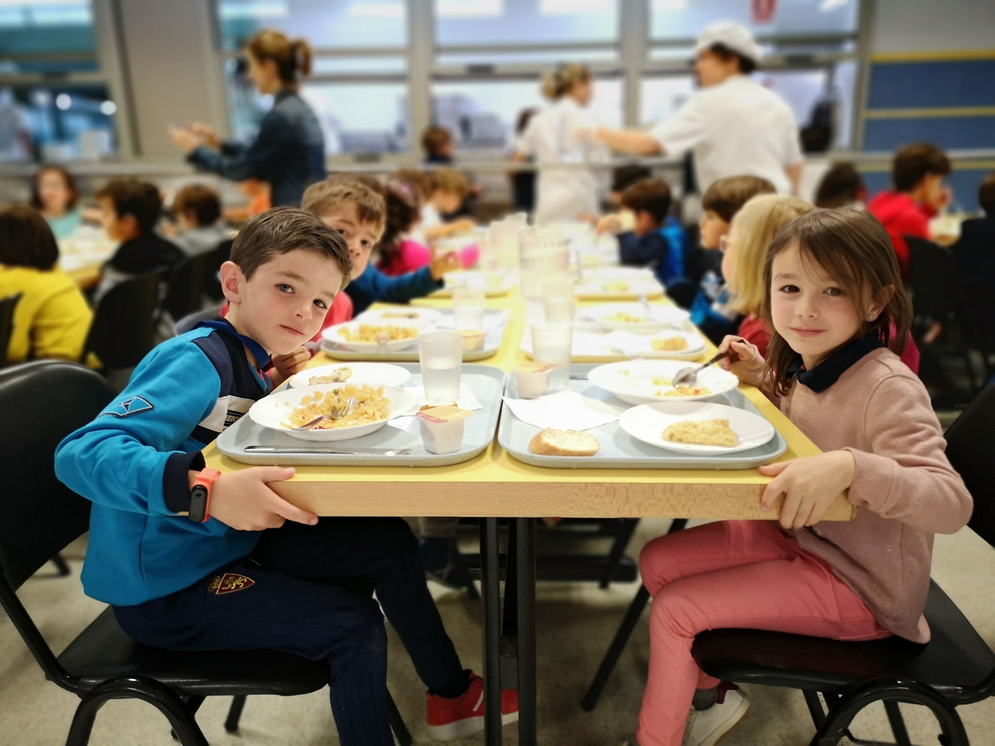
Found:
[[(405, 386), (419, 386), (422, 376), (418, 365), (401, 367), (412, 372), (411, 380)], [(454, 454), (430, 454), (422, 444), (418, 421), (414, 417), (403, 417), (384, 425), (375, 433), (349, 441), (334, 441), (327, 444), (314, 441), (301, 441), (269, 428), (263, 428), (246, 415), (218, 436), (215, 441), (225, 456), (243, 464), (281, 466), (450, 466), (470, 461), (483, 452), (495, 439), (497, 415), (500, 412), (501, 394), (504, 392), (504, 371), (491, 365), (464, 365), (463, 382), (470, 386), (481, 409), (466, 421), (463, 448)], [(289, 395), (299, 389), (290, 389)], [(320, 449), (327, 446), (333, 449), (411, 449), (406, 456), (383, 456), (379, 454), (257, 454), (246, 451), (246, 446), (272, 446), (293, 450), (295, 448)]]

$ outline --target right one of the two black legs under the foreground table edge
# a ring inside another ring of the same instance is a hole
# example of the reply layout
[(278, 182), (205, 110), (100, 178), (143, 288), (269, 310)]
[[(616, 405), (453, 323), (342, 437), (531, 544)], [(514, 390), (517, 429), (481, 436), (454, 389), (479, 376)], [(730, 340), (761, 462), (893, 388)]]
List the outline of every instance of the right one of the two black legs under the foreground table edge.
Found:
[(535, 518), (514, 521), (518, 581), (518, 744), (535, 746)]

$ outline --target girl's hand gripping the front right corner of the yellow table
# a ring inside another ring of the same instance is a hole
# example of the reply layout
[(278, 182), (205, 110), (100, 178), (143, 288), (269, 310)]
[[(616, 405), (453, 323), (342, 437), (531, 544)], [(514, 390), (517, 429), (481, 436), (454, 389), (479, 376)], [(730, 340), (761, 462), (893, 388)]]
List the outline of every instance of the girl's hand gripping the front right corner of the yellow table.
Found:
[(790, 462), (760, 466), (760, 473), (774, 479), (763, 490), (760, 506), (774, 507), (784, 495), (780, 522), (783, 528), (814, 526), (843, 490), (854, 481), (857, 464), (849, 451), (830, 451)]

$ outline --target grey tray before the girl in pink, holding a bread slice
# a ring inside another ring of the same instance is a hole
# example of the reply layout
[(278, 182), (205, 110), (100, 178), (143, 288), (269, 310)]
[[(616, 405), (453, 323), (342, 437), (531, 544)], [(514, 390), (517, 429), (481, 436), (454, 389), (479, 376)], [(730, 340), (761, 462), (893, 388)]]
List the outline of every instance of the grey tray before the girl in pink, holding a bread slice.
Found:
[[(570, 375), (586, 376), (587, 372), (595, 367), (597, 366), (590, 364), (574, 364), (570, 366)], [(586, 378), (571, 377), (569, 389), (591, 399), (613, 405), (633, 406), (616, 399)], [(515, 396), (513, 375), (507, 377), (504, 393), (506, 396)], [(728, 404), (760, 414), (759, 410), (738, 390), (711, 397), (708, 401)], [(615, 421), (587, 431), (601, 444), (601, 450), (594, 456), (539, 456), (528, 450), (529, 441), (539, 431), (540, 428), (524, 423), (515, 417), (507, 406), (502, 407), (500, 427), (497, 429), (498, 445), (512, 458), (532, 466), (552, 468), (753, 468), (776, 459), (788, 448), (784, 437), (775, 430), (773, 440), (749, 451), (741, 451), (727, 456), (689, 456), (654, 448), (637, 441), (622, 430), (618, 421)]]

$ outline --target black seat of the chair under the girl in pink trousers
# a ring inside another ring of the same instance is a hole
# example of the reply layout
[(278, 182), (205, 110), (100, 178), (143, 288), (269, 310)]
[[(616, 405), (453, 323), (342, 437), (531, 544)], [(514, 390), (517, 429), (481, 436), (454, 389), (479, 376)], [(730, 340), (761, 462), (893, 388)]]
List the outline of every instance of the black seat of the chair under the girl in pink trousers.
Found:
[[(910, 678), (958, 703), (995, 669), (995, 654), (956, 605), (930, 582), (926, 645), (893, 637), (847, 643), (759, 630), (711, 630), (692, 654), (709, 675), (728, 681), (840, 691), (875, 678)], [(979, 695), (981, 698), (983, 695)]]

